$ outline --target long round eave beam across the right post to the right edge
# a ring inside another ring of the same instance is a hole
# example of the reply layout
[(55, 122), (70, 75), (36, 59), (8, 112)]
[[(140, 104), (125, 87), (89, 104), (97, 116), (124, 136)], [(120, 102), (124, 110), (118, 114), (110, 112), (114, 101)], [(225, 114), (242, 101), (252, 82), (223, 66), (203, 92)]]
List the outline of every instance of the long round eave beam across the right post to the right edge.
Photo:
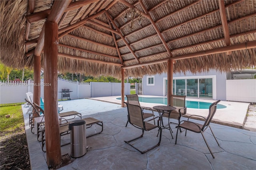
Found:
[(204, 56), (204, 55), (211, 55), (211, 54), (216, 54), (216, 53), (226, 53), (228, 51), (238, 51), (238, 50), (250, 49), (250, 48), (256, 48), (256, 41), (240, 43), (240, 44), (235, 44), (235, 45), (229, 45), (229, 46), (220, 47), (220, 48), (216, 48), (216, 49), (199, 51), (196, 53), (178, 55), (175, 57), (160, 59), (157, 61), (149, 61), (149, 62), (139, 63), (139, 64), (135, 64), (135, 65), (127, 65), (127, 66), (123, 66), (121, 68), (122, 69), (130, 69), (130, 68), (134, 68), (134, 67), (141, 67), (144, 65), (163, 63), (163, 62), (168, 61), (169, 59), (172, 59), (172, 60), (188, 59), (188, 58), (200, 57), (200, 56)]

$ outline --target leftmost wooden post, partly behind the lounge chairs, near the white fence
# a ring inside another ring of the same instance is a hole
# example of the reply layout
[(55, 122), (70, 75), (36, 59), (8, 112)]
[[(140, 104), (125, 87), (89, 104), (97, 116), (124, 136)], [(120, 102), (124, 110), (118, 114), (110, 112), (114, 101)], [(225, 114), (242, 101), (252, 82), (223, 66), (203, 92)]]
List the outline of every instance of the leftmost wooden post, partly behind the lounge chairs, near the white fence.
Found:
[(40, 86), (40, 72), (41, 72), (41, 56), (34, 55), (34, 92), (33, 102), (40, 106), (41, 86)]

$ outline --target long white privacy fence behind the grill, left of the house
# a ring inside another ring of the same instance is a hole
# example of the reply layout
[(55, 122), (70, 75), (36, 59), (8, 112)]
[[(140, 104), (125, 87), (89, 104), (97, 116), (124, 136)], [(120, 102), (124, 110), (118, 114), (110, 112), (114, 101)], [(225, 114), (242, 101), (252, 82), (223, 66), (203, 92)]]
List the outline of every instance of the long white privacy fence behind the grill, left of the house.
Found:
[[(34, 86), (38, 85), (41, 87), (41, 97), (44, 99), (44, 86), (46, 84), (44, 84), (43, 79), (40, 84), (34, 84), (32, 80), (26, 82), (0, 82), (0, 103), (24, 102), (26, 93), (29, 91), (33, 93)], [(60, 92), (62, 89), (70, 89), (72, 91), (70, 92), (71, 99), (121, 95), (121, 83), (85, 83), (58, 78), (58, 99), (61, 99)], [(124, 89), (125, 95), (130, 94), (130, 83), (125, 83)]]

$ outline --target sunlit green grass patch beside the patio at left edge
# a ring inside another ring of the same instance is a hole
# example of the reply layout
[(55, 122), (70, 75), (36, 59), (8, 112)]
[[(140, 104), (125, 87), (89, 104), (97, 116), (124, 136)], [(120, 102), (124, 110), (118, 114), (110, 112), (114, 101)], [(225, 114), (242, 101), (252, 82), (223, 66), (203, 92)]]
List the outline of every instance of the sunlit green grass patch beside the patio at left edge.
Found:
[[(24, 130), (21, 104), (0, 106), (0, 136)], [(6, 118), (5, 115), (10, 115), (10, 118)]]

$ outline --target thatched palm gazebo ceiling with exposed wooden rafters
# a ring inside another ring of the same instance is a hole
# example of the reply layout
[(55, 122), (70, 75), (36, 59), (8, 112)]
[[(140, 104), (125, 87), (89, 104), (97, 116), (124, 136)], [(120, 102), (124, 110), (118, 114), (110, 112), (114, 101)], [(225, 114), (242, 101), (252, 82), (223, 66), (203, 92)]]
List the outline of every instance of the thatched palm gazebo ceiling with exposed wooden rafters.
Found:
[[(1, 62), (33, 67), (44, 57), (52, 0), (0, 1)], [(126, 10), (143, 12), (141, 24)], [(58, 22), (58, 70), (142, 76), (256, 65), (255, 0), (72, 0)], [(42, 65), (43, 67), (43, 65)]]

